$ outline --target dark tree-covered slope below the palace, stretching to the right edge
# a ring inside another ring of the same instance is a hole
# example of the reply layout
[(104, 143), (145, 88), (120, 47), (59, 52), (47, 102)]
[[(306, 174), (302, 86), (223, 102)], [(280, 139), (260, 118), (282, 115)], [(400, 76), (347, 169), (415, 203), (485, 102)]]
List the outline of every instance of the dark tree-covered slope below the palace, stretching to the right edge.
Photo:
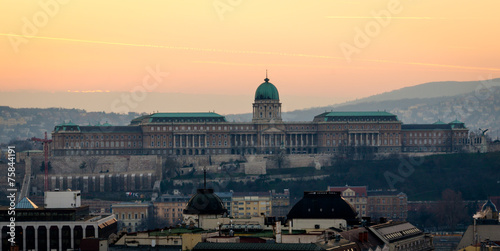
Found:
[[(465, 200), (484, 200), (500, 195), (500, 152), (478, 154), (461, 153), (432, 155), (421, 158), (391, 156), (383, 160), (345, 160), (332, 167), (273, 169), (255, 182), (210, 184), (216, 191), (265, 192), (289, 188), (293, 198), (301, 198), (304, 191), (326, 190), (328, 186), (368, 186), (368, 189), (397, 189), (409, 200), (439, 200), (442, 192), (452, 189), (461, 192)], [(283, 181), (277, 174), (306, 177), (328, 174), (321, 180), (299, 179)], [(228, 174), (231, 175), (231, 174)], [(201, 180), (201, 178), (200, 178)], [(196, 182), (196, 181), (195, 181)], [(201, 184), (201, 183), (199, 183)], [(164, 192), (181, 189), (192, 193), (197, 185), (174, 186), (165, 181)]]

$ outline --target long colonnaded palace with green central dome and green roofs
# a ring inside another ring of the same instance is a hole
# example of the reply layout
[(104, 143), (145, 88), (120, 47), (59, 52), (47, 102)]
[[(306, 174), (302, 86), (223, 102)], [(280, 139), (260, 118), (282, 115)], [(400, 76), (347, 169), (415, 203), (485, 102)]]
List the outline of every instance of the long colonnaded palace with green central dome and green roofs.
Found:
[(54, 128), (52, 154), (390, 154), (457, 152), (467, 144), (469, 129), (458, 120), (403, 124), (385, 111), (332, 111), (310, 122), (283, 121), (278, 89), (264, 81), (255, 92), (251, 122), (228, 122), (213, 112), (154, 113), (128, 126), (69, 122)]

